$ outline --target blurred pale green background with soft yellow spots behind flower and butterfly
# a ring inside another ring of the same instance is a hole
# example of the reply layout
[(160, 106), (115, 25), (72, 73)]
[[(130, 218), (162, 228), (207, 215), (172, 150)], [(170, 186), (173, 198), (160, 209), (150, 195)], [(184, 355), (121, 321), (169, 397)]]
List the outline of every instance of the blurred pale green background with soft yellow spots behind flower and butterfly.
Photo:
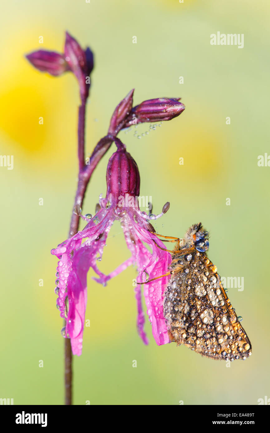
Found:
[[(78, 87), (72, 74), (52, 78), (23, 55), (37, 49), (61, 52), (65, 30), (95, 55), (88, 154), (131, 88), (135, 104), (182, 97), (186, 109), (178, 118), (141, 139), (134, 129), (119, 137), (137, 161), (140, 194), (152, 196), (153, 212), (171, 203), (156, 222), (158, 233), (182, 237), (202, 221), (220, 275), (244, 277), (244, 291), (233, 288), (228, 294), (253, 346), (250, 359), (228, 368), (183, 346), (156, 346), (148, 320), (150, 344), (144, 346), (136, 331), (136, 270), (127, 269), (106, 288), (90, 273), (86, 319), (91, 326), (85, 328), (81, 357), (74, 359), (74, 404), (257, 404), (270, 397), (270, 168), (257, 165), (258, 155), (270, 152), (269, 12), (268, 2), (251, 0), (5, 3), (0, 142), (2, 155), (14, 155), (14, 168), (0, 168), (1, 398), (63, 404), (64, 340), (55, 308), (57, 260), (50, 250), (67, 237), (75, 194)], [(218, 31), (244, 33), (244, 48), (210, 45), (210, 35)], [(83, 213), (93, 213), (99, 194), (106, 192), (113, 150), (94, 172)], [(100, 265), (106, 273), (130, 256), (120, 231), (115, 223), (104, 249)]]

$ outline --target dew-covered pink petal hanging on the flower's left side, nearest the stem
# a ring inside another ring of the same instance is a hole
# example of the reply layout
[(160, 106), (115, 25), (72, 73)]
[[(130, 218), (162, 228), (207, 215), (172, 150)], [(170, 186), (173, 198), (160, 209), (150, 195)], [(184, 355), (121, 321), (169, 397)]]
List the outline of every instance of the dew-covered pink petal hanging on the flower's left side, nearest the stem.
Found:
[[(71, 338), (74, 355), (81, 355), (87, 302), (87, 272), (90, 266), (95, 268), (97, 254), (102, 255), (107, 233), (114, 220), (112, 212), (113, 209), (100, 209), (81, 232), (52, 250), (52, 254), (57, 255), (60, 259), (56, 281), (59, 289), (57, 305), (60, 316), (67, 320), (65, 336)], [(88, 239), (81, 245), (83, 238)], [(66, 296), (68, 296), (67, 316), (65, 314)]]

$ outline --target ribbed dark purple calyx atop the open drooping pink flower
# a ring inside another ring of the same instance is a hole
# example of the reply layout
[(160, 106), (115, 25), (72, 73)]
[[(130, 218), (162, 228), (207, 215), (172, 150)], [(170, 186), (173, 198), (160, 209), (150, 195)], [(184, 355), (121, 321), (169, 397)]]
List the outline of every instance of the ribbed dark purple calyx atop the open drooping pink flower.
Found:
[(107, 165), (107, 194), (106, 197), (117, 206), (120, 198), (126, 194), (133, 197), (140, 195), (140, 174), (136, 162), (126, 149), (118, 149), (109, 159)]

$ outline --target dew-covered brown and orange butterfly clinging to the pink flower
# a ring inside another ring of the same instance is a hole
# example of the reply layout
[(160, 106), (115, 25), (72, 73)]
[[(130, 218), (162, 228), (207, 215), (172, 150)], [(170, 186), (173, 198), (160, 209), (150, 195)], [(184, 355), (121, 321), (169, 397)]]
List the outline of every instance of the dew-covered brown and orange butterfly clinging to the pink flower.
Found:
[(170, 251), (170, 279), (163, 301), (169, 338), (211, 359), (247, 359), (251, 343), (217, 267), (207, 257), (208, 238), (201, 223), (191, 226), (183, 239), (170, 238), (178, 240)]

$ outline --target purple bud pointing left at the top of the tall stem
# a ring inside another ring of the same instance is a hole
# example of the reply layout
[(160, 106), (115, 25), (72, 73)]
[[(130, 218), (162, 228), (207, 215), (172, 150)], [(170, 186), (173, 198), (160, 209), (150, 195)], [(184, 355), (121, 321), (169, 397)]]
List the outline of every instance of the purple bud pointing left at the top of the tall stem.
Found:
[(54, 76), (70, 71), (64, 56), (54, 51), (34, 51), (26, 55), (26, 58), (39, 71), (45, 71)]

